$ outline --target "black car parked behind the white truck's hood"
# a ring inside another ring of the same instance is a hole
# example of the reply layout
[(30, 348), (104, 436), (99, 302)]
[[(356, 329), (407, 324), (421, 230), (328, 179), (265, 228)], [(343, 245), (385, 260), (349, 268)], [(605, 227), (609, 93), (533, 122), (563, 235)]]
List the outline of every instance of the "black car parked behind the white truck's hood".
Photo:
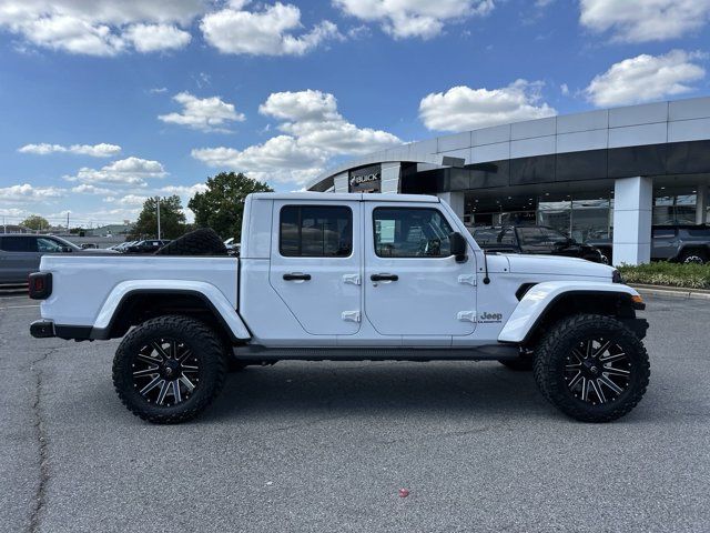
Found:
[(582, 244), (546, 225), (506, 225), (473, 228), (480, 248), (494, 252), (534, 253), (581, 258), (601, 263), (602, 255), (595, 247)]

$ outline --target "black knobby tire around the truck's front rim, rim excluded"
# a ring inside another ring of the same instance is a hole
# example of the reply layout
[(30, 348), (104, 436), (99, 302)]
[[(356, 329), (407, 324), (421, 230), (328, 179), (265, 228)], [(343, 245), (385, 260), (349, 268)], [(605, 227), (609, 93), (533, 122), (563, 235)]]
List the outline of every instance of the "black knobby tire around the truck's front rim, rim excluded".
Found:
[[(613, 401), (596, 405), (576, 398), (565, 381), (568, 355), (596, 336), (617, 343), (630, 364), (629, 383)], [(561, 412), (581, 422), (611, 422), (629, 413), (643, 398), (650, 376), (648, 353), (636, 334), (619, 320), (576, 314), (549, 328), (536, 350), (534, 375), (542, 395)]]

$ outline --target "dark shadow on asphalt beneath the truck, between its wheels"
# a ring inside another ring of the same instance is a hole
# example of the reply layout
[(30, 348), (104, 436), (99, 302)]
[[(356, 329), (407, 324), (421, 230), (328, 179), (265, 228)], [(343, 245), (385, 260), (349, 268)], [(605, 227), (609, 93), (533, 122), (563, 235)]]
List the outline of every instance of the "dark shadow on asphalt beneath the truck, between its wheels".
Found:
[(549, 415), (531, 372), (476, 362), (287, 362), (230, 374), (203, 420), (275, 416)]

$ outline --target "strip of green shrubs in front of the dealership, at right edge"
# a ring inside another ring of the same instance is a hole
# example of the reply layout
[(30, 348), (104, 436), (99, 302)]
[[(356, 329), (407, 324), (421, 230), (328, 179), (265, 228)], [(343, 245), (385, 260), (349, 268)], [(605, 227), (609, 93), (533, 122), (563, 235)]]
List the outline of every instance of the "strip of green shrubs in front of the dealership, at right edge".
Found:
[(710, 289), (710, 264), (682, 264), (666, 261), (638, 266), (619, 266), (627, 283)]

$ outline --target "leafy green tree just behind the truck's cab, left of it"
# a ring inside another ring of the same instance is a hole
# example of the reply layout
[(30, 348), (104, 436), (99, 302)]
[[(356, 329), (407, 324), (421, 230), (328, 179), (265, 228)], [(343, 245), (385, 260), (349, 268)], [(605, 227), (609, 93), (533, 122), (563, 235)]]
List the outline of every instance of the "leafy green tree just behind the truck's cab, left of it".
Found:
[(241, 172), (220, 172), (207, 179), (207, 190), (192, 197), (187, 207), (195, 213), (196, 227), (212, 228), (223, 239), (240, 239), (246, 195), (272, 191), (266, 183)]

